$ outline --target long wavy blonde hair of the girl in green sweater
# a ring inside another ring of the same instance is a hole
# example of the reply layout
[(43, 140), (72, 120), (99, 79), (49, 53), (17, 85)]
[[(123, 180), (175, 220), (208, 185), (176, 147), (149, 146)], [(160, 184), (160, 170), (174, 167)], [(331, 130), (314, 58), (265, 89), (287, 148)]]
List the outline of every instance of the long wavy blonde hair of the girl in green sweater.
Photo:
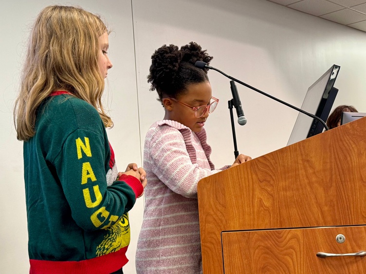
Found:
[(60, 89), (94, 106), (106, 127), (113, 125), (101, 102), (104, 78), (98, 67), (98, 38), (105, 32), (100, 17), (82, 8), (54, 5), (39, 13), (14, 107), (18, 140), (27, 141), (35, 135), (37, 108)]

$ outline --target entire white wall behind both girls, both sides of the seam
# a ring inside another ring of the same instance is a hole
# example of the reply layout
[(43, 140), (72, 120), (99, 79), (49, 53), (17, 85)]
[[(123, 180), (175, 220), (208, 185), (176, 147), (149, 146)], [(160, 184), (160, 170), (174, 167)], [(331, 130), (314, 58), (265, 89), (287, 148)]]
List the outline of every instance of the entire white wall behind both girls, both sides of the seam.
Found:
[[(0, 10), (3, 273), (26, 273), (29, 268), (22, 143), (16, 140), (11, 112), (28, 26), (42, 7), (53, 3), (15, 0), (4, 2)], [(366, 112), (366, 33), (265, 0), (77, 0), (67, 4), (103, 15), (114, 31), (110, 34), (114, 67), (108, 76), (106, 103), (115, 122), (109, 137), (120, 170), (131, 161), (141, 164), (146, 131), (164, 116), (146, 83), (150, 56), (163, 44), (182, 46), (196, 41), (214, 56), (213, 67), (296, 106), (301, 106), (312, 83), (331, 65), (339, 65), (334, 105), (353, 104)], [(227, 108), (231, 92), (228, 79), (215, 71), (209, 77), (220, 103), (206, 130), (212, 159), (221, 167), (234, 160)], [(285, 146), (297, 113), (248, 88), (238, 86), (238, 91), (248, 119), (245, 126), (236, 126), (239, 152), (257, 157)], [(130, 212), (132, 239), (125, 273), (134, 273), (142, 214), (140, 199)]]

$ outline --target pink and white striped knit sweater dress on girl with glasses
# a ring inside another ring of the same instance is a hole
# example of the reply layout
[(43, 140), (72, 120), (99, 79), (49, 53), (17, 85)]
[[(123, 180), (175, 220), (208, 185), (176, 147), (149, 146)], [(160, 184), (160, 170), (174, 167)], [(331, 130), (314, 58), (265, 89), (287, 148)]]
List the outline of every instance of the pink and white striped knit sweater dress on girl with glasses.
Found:
[[(197, 183), (215, 170), (204, 129), (193, 133), (172, 120), (146, 134), (144, 221), (137, 243), (138, 274), (201, 273)], [(227, 168), (225, 166), (222, 169)]]

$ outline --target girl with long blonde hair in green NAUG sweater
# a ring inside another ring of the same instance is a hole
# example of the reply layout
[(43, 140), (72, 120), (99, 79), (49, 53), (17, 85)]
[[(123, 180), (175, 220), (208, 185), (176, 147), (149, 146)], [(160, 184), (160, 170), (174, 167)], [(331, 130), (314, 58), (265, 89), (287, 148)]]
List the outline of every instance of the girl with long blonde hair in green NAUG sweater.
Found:
[(118, 172), (101, 103), (108, 30), (81, 8), (48, 6), (31, 31), (14, 120), (24, 141), (30, 273), (122, 273), (128, 210), (146, 186)]

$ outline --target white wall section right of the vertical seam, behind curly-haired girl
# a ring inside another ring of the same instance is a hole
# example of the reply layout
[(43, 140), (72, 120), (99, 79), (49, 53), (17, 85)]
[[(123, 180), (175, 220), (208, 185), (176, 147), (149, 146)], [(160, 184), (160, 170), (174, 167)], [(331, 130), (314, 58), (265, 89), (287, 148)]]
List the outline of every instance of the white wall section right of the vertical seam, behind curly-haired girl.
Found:
[[(179, 12), (177, 12), (179, 11)], [(214, 56), (211, 66), (298, 107), (305, 93), (333, 64), (341, 66), (334, 105), (366, 111), (363, 68), (366, 34), (265, 0), (133, 1), (142, 135), (163, 117), (146, 75), (152, 52), (163, 44), (196, 41)], [(148, 41), (148, 42), (147, 42)], [(209, 72), (219, 106), (206, 123), (217, 166), (233, 160), (227, 101), (229, 79)], [(238, 86), (248, 123), (236, 125), (238, 150), (257, 157), (287, 144), (297, 112)], [(152, 113), (152, 114), (151, 114)]]

